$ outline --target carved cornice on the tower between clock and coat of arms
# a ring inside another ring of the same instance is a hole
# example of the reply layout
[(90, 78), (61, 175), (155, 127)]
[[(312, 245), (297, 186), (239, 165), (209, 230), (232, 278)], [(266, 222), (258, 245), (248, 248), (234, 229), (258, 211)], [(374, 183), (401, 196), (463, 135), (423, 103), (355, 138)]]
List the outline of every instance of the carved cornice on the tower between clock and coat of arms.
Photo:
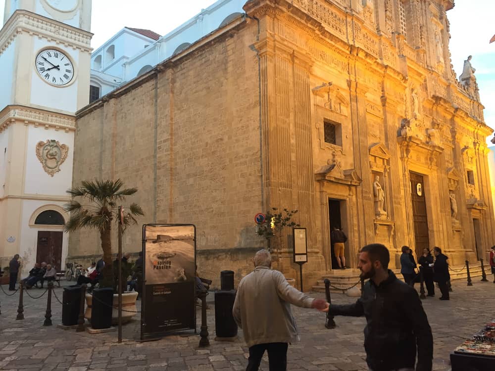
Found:
[(45, 129), (54, 128), (65, 132), (76, 130), (75, 116), (45, 111), (43, 109), (20, 105), (6, 106), (0, 112), (0, 133), (9, 125), (22, 122), (24, 125), (34, 125)]

